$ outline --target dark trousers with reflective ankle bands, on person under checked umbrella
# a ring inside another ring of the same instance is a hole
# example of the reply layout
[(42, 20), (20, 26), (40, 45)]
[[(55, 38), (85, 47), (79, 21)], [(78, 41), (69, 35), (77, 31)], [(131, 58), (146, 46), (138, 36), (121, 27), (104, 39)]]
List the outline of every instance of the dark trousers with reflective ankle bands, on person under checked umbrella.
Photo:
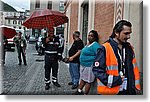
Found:
[(57, 81), (58, 59), (54, 56), (45, 54), (45, 83), (50, 83), (50, 75), (52, 70), (52, 81)]

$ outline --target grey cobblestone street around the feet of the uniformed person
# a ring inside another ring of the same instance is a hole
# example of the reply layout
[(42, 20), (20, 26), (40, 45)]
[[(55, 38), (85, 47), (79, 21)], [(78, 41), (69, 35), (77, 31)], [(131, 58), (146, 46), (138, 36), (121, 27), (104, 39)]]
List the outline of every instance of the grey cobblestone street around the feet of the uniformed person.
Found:
[(44, 56), (38, 56), (34, 44), (28, 44), (27, 66), (18, 65), (17, 52), (7, 52), (6, 64), (3, 68), (3, 93), (2, 94), (71, 94), (72, 90), (67, 83), (70, 81), (68, 65), (60, 62), (59, 82), (61, 88), (51, 84), (50, 89), (44, 89)]

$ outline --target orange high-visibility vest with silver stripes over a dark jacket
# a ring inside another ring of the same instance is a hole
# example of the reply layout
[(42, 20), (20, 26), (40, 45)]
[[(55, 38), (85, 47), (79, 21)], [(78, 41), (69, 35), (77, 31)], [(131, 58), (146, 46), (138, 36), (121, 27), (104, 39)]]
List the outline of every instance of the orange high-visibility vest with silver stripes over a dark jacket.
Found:
[[(106, 66), (107, 66), (106, 73), (109, 74), (109, 76), (119, 76), (117, 58), (115, 56), (115, 53), (110, 43), (107, 42), (103, 44), (103, 46), (106, 49)], [(133, 59), (132, 63), (134, 67), (135, 85), (137, 89), (140, 89), (139, 70), (138, 70), (135, 58)], [(119, 93), (119, 89), (120, 89), (120, 85), (110, 88), (109, 85), (105, 86), (99, 79), (97, 79), (98, 94), (115, 95)]]

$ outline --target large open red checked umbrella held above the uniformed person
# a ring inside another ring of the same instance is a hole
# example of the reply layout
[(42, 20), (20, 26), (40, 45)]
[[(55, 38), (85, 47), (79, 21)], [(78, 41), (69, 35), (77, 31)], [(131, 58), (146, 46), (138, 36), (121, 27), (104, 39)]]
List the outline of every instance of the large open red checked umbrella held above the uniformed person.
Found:
[(43, 29), (57, 27), (67, 22), (68, 17), (63, 13), (44, 9), (34, 11), (23, 25), (27, 28)]

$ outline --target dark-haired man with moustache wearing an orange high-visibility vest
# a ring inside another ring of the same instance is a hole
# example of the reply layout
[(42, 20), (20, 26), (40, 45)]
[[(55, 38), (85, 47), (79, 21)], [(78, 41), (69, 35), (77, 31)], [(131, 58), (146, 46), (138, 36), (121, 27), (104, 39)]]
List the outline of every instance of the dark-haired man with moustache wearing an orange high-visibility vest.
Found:
[(127, 42), (132, 24), (119, 21), (109, 40), (99, 49), (93, 67), (97, 92), (104, 95), (135, 95), (140, 90), (140, 74), (133, 47)]

